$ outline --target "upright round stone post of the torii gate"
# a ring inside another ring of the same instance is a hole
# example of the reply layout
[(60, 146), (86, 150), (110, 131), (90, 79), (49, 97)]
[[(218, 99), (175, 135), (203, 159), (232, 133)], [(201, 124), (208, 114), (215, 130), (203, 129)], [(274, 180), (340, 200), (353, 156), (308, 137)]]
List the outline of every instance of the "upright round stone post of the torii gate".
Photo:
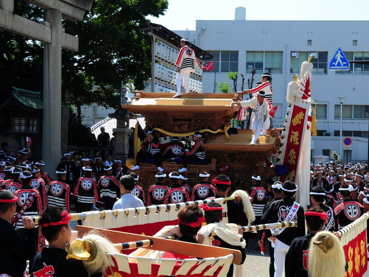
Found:
[(51, 27), (51, 43), (44, 45), (42, 159), (45, 171), (55, 180), (56, 166), (61, 157), (62, 12), (47, 9), (44, 15), (46, 24)]

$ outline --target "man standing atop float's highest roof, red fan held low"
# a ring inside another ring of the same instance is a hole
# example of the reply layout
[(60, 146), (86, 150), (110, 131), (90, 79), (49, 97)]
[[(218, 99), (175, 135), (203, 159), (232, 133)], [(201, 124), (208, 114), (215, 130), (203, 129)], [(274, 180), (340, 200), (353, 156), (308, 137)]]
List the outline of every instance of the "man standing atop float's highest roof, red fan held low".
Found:
[(186, 88), (186, 93), (190, 92), (188, 86), (188, 78), (190, 77), (191, 72), (195, 72), (195, 65), (199, 66), (201, 69), (204, 69), (203, 66), (200, 65), (199, 61), (196, 58), (195, 52), (187, 46), (188, 40), (185, 38), (181, 39), (180, 45), (181, 49), (179, 50), (179, 55), (177, 57), (176, 66), (177, 68), (177, 94), (173, 96), (173, 98), (181, 97), (181, 79), (183, 78), (184, 88)]

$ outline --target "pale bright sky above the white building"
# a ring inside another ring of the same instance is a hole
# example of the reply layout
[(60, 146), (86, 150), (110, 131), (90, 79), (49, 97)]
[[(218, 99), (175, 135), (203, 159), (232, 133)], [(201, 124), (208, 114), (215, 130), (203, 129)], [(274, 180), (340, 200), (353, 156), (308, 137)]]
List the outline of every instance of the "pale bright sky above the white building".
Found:
[(169, 0), (164, 16), (149, 16), (170, 30), (195, 30), (196, 20), (234, 20), (246, 7), (246, 20), (368, 20), (369, 1)]

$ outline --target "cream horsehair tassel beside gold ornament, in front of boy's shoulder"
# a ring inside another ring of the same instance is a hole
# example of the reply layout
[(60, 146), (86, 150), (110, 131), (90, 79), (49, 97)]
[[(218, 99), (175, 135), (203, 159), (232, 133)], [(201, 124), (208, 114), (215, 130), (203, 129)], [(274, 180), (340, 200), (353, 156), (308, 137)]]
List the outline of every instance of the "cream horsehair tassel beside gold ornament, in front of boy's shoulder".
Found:
[(82, 237), (82, 241), (90, 240), (96, 246), (96, 257), (92, 261), (82, 261), (89, 276), (98, 272), (105, 272), (108, 267), (114, 266), (113, 259), (108, 253), (120, 253), (110, 240), (106, 239), (101, 233), (96, 230), (92, 230), (88, 234)]

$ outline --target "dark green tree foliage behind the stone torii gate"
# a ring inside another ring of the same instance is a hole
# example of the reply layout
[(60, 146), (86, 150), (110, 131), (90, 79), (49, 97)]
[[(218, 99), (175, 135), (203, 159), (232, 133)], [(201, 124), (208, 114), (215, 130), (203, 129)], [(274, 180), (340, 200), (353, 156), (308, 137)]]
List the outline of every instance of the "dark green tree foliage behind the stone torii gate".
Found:
[[(168, 0), (94, 0), (82, 22), (63, 18), (65, 33), (79, 37), (79, 52), (62, 50), (63, 104), (117, 107), (121, 80), (143, 89), (151, 75), (151, 42), (137, 27), (167, 8)], [(40, 8), (20, 0), (14, 13), (38, 22), (43, 18)], [(3, 88), (42, 92), (42, 43), (3, 30), (0, 37)]]

